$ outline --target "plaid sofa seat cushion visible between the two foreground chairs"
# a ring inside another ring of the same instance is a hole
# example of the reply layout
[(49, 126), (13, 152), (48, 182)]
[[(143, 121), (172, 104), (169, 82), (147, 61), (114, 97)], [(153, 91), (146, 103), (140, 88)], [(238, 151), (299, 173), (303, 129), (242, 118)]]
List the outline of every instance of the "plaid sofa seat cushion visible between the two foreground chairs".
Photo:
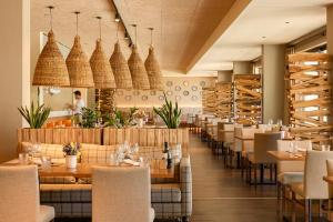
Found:
[(91, 184), (41, 184), (42, 203), (91, 202)]

